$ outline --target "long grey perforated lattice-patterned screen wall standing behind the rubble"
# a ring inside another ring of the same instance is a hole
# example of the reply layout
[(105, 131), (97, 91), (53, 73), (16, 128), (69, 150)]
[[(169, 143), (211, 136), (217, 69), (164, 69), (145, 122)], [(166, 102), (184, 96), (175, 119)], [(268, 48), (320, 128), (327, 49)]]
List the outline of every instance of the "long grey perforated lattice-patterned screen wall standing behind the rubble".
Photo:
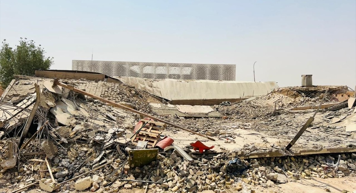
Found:
[(72, 70), (111, 77), (235, 80), (236, 65), (73, 60)]

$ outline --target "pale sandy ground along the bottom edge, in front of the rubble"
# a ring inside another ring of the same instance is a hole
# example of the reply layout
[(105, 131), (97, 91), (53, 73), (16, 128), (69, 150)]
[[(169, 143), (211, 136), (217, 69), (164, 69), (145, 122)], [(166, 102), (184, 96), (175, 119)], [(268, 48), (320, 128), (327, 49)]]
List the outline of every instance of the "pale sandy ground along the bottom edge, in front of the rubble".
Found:
[[(314, 178), (309, 180), (298, 180), (297, 182), (288, 182), (278, 184), (272, 188), (265, 189), (261, 186), (246, 186), (239, 193), (251, 193), (251, 189), (256, 193), (325, 193), (325, 187), (328, 187), (331, 193), (340, 193), (342, 190), (349, 192), (356, 191), (356, 177), (347, 178)], [(251, 188), (251, 189), (250, 189)], [(0, 187), (0, 192), (11, 192), (12, 190)], [(26, 193), (45, 193), (40, 188), (32, 188)], [(110, 191), (108, 191), (110, 192)], [(226, 192), (233, 193), (232, 189), (226, 189)], [(70, 193), (90, 193), (90, 191), (70, 191)], [(119, 193), (144, 193), (144, 189), (120, 189)], [(148, 193), (153, 193), (148, 191)], [(203, 191), (203, 193), (214, 193), (214, 191)]]

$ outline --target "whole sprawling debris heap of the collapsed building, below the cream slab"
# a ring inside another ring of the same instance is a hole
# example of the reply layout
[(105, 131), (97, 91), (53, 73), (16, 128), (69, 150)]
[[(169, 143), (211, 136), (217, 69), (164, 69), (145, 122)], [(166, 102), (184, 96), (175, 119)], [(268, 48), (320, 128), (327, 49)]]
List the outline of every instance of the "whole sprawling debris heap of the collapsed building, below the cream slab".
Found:
[[(356, 104), (347, 87), (271, 83), (266, 93), (246, 92), (245, 97), (243, 86), (236, 91), (242, 96), (211, 106), (198, 98), (191, 105), (174, 105), (166, 95), (120, 81), (131, 77), (70, 71), (36, 75), (17, 76), (1, 96), (5, 192), (38, 184), (47, 192), (224, 193), (356, 176)], [(313, 121), (286, 149), (310, 117)]]

